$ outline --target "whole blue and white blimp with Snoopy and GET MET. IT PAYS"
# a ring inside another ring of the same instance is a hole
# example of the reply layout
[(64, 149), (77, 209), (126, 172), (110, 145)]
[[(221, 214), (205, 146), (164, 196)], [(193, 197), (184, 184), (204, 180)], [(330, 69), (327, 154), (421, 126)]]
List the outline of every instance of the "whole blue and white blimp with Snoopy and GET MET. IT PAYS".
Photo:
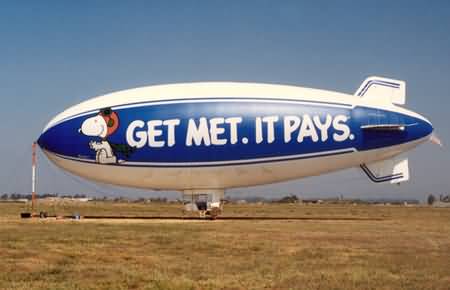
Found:
[(95, 97), (38, 138), (58, 167), (96, 182), (207, 196), (357, 167), (375, 183), (410, 178), (402, 154), (432, 138), (404, 81), (369, 77), (353, 95), (290, 85), (198, 82)]

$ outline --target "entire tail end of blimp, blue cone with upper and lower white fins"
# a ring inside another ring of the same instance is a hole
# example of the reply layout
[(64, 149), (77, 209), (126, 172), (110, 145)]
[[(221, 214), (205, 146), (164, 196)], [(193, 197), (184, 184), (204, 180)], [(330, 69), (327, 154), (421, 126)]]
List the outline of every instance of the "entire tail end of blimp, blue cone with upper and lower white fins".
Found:
[[(383, 149), (386, 151), (385, 157), (380, 154), (381, 160), (362, 163), (361, 169), (375, 183), (401, 183), (409, 180), (408, 159), (398, 155), (427, 141), (433, 127), (423, 116), (398, 107), (406, 101), (405, 82), (369, 77), (361, 84), (355, 96), (361, 97), (370, 106), (355, 108), (353, 111), (361, 124), (364, 140), (360, 149), (398, 148), (388, 151)], [(377, 107), (373, 107), (373, 104)]]

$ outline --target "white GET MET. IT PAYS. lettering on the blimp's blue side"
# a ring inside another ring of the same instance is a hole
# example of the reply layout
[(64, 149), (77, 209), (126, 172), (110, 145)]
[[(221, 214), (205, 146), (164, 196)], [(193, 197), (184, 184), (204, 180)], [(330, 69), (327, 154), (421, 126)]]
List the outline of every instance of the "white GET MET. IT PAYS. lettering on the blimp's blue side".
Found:
[[(326, 142), (332, 135), (336, 142), (354, 139), (350, 127), (346, 123), (348, 117), (345, 115), (287, 115), (283, 118), (283, 132), (275, 131), (279, 116), (264, 116), (255, 118), (255, 142), (267, 144), (276, 141), (277, 134), (283, 134), (284, 143), (292, 142), (296, 138), (298, 143), (311, 138), (311, 142)], [(187, 120), (186, 146), (223, 146), (226, 144), (242, 144), (249, 142), (247, 137), (240, 136), (239, 124), (243, 122), (242, 117), (215, 117), (207, 119), (201, 117)], [(142, 148), (148, 144), (149, 147), (161, 148), (173, 147), (176, 144), (177, 126), (181, 124), (180, 119), (135, 120), (130, 123), (126, 131), (127, 143), (135, 148)], [(281, 125), (281, 124), (280, 124)], [(330, 129), (331, 128), (331, 129)], [(281, 128), (279, 128), (281, 129)], [(294, 135), (295, 134), (295, 135)], [(319, 136), (320, 134), (320, 136)], [(243, 137), (243, 138), (242, 138)], [(240, 139), (242, 138), (242, 140)]]

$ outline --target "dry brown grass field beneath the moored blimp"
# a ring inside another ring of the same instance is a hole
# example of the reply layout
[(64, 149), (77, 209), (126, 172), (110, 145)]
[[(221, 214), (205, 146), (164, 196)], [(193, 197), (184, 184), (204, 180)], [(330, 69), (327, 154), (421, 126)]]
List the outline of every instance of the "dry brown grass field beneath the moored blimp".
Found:
[[(449, 208), (225, 208), (225, 215), (311, 217), (295, 221), (21, 220), (24, 209), (0, 203), (0, 289), (450, 289)], [(171, 204), (41, 209), (180, 213)]]

